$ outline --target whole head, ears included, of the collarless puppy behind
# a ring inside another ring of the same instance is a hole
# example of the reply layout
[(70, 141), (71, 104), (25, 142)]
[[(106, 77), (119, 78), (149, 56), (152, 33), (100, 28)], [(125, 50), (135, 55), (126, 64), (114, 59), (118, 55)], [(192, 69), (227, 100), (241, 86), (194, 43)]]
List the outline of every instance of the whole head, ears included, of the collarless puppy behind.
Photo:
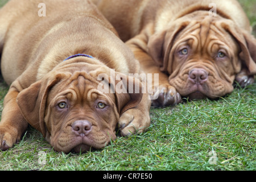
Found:
[[(200, 13), (199, 13), (200, 14)], [(232, 92), (243, 69), (256, 74), (256, 41), (232, 20), (184, 16), (152, 36), (150, 55), (181, 96), (216, 98)]]

